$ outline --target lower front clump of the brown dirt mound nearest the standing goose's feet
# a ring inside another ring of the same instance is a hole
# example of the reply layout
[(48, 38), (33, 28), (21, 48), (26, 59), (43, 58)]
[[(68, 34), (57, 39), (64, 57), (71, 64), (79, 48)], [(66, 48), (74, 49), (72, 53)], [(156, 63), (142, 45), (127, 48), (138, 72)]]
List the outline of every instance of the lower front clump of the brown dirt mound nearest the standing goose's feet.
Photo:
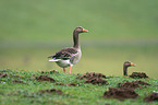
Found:
[(92, 77), (88, 78), (87, 80), (84, 81), (84, 83), (92, 83), (92, 84), (108, 84), (108, 82), (106, 80), (102, 80), (101, 78), (97, 78), (97, 77)]

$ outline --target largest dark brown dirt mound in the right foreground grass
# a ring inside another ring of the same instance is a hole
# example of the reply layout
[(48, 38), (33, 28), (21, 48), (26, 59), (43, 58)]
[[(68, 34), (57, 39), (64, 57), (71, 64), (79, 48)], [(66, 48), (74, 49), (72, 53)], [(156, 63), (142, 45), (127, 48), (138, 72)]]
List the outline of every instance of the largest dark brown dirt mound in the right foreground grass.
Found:
[(138, 96), (132, 89), (117, 89), (117, 88), (109, 88), (109, 91), (104, 93), (105, 98), (118, 98), (118, 100), (125, 100), (125, 98), (136, 98)]

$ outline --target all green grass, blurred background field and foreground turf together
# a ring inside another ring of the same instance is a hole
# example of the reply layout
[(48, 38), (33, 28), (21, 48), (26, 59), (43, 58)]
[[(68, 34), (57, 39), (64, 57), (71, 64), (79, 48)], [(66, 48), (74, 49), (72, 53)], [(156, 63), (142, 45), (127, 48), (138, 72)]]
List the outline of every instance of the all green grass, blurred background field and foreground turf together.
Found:
[[(26, 82), (13, 84), (14, 78), (1, 79), (0, 104), (146, 104), (143, 97), (157, 88), (137, 89), (141, 97), (136, 102), (101, 96), (119, 81), (132, 81), (121, 77), (125, 60), (137, 65), (130, 68), (129, 73), (146, 72), (154, 79), (145, 81), (156, 84), (157, 3), (157, 0), (0, 0), (0, 70), (11, 69), (13, 71), (8, 73), (23, 75), (22, 80)], [(62, 71), (56, 63), (48, 62), (47, 57), (71, 46), (72, 32), (78, 25), (89, 33), (80, 36), (83, 57), (73, 67), (74, 74), (49, 75), (60, 82), (78, 83), (82, 81), (74, 81), (76, 73), (94, 71), (120, 77), (109, 79), (107, 86), (82, 84), (69, 88), (32, 81), (31, 75), (39, 75), (39, 70)], [(65, 95), (36, 94), (41, 89), (51, 88), (61, 89)]]

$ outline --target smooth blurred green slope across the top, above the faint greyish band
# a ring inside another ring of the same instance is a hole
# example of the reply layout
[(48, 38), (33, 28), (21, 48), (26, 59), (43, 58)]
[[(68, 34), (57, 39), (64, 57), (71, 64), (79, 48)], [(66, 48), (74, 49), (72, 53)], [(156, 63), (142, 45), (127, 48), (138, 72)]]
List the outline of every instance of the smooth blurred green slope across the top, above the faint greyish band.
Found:
[(157, 0), (0, 0), (0, 39), (70, 40), (78, 25), (89, 30), (83, 39), (154, 39), (157, 4)]

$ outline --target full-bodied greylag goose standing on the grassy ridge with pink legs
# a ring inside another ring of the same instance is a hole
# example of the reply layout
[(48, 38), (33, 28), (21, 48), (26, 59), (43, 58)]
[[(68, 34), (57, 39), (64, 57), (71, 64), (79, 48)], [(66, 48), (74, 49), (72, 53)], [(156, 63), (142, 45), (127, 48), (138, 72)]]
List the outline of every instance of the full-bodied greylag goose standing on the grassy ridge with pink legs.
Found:
[(78, 44), (78, 34), (84, 32), (88, 31), (83, 28), (82, 26), (77, 26), (73, 32), (73, 47), (63, 48), (56, 52), (53, 56), (48, 57), (51, 58), (49, 61), (54, 61), (59, 67), (63, 68), (64, 73), (65, 68), (68, 67), (70, 67), (69, 73), (71, 73), (73, 65), (78, 62), (81, 59), (82, 52)]

